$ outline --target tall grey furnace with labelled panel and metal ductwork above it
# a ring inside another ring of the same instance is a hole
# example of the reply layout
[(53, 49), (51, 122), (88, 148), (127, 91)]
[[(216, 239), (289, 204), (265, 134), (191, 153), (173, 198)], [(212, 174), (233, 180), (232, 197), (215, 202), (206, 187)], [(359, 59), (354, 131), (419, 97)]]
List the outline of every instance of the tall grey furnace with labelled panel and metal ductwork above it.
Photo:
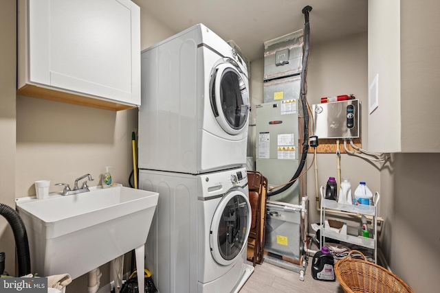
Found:
[[(300, 163), (303, 35), (298, 30), (265, 42), (264, 104), (256, 105), (256, 171), (267, 177), (269, 187), (288, 183)], [(300, 178), (270, 200), (299, 204), (302, 189)]]

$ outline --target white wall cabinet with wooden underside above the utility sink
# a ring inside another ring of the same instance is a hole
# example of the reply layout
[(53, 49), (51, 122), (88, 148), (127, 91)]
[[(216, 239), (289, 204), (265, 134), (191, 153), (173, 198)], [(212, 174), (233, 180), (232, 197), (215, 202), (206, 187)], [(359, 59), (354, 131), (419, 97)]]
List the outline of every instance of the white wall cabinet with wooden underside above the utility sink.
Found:
[(19, 0), (21, 95), (110, 110), (140, 105), (140, 8), (129, 0)]

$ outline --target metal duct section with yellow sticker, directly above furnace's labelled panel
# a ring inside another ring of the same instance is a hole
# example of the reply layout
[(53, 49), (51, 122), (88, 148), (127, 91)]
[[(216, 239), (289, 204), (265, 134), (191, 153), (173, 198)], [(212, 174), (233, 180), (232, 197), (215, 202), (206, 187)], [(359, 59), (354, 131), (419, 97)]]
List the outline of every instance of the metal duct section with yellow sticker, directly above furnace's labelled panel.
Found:
[(263, 84), (264, 102), (277, 102), (286, 99), (299, 99), (301, 91), (301, 77), (294, 75), (289, 78), (270, 80)]

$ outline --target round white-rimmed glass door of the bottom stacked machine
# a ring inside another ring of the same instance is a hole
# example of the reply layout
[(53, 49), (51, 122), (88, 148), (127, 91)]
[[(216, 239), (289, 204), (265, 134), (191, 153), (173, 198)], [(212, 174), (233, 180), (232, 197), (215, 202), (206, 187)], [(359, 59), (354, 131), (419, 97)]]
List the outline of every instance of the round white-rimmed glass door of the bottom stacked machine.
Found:
[(223, 196), (211, 223), (211, 253), (217, 263), (228, 266), (247, 248), (251, 208), (243, 189), (234, 189)]

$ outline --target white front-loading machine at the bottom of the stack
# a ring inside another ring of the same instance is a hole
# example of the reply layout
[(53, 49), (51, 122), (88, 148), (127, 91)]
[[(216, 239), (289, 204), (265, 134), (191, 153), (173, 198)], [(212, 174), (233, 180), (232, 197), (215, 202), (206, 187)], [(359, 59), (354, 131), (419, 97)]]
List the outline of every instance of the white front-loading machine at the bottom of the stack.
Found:
[(146, 242), (146, 268), (161, 293), (238, 292), (251, 209), (244, 167), (207, 174), (140, 170), (140, 188), (159, 199)]

